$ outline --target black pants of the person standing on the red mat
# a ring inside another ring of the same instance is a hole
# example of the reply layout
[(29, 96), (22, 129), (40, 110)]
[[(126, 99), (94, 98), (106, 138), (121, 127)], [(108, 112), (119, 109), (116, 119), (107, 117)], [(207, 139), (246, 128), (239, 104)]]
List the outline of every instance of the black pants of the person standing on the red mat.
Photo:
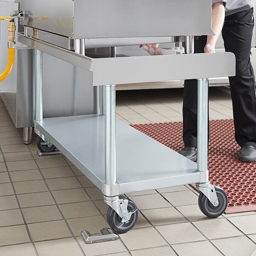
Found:
[[(222, 37), (226, 52), (236, 56), (236, 76), (229, 77), (235, 138), (240, 146), (256, 146), (256, 96), (250, 48), (253, 9), (225, 17)], [(207, 36), (195, 40), (195, 53), (204, 52)], [(183, 93), (183, 141), (197, 147), (197, 80), (185, 80)]]

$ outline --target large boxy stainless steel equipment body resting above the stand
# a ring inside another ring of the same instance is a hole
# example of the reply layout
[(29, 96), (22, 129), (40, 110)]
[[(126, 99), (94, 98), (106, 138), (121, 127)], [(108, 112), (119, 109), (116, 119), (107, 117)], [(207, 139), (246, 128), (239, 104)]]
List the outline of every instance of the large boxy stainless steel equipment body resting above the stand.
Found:
[(212, 34), (211, 0), (21, 0), (21, 9), (23, 25), (76, 39)]

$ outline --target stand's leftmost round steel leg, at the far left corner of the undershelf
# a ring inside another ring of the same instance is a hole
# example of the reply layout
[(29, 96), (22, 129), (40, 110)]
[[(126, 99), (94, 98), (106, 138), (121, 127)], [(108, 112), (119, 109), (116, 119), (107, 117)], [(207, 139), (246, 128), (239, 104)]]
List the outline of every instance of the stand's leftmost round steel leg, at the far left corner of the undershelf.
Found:
[[(43, 52), (34, 49), (34, 89), (35, 89), (35, 120), (43, 120), (43, 76), (42, 76), (42, 54)], [(40, 132), (34, 129), (41, 137)], [(44, 138), (42, 138), (44, 140)]]

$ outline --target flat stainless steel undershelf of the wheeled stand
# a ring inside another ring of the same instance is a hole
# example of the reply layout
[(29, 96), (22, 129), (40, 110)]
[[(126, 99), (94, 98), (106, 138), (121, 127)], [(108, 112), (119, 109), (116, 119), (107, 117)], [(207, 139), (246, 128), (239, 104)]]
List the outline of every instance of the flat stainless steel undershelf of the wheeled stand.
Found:
[[(102, 115), (47, 118), (41, 131), (99, 189), (105, 180), (105, 118)], [(200, 181), (197, 164), (116, 119), (116, 180), (128, 193)]]

